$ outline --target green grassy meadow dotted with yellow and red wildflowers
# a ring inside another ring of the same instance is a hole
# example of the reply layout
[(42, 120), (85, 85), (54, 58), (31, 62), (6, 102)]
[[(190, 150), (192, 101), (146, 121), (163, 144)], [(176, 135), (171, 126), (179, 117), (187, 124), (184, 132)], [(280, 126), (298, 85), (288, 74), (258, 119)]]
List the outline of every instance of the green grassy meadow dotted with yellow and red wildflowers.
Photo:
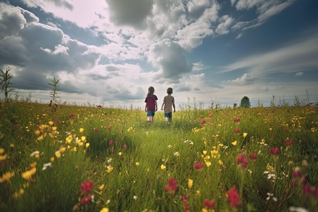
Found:
[(0, 211), (318, 211), (318, 108), (0, 102)]

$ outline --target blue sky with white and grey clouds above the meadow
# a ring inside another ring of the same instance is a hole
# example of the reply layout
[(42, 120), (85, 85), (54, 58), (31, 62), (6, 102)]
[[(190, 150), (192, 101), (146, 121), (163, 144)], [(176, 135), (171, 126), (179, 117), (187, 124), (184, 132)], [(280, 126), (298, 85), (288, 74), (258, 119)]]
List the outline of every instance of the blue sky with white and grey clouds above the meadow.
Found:
[[(31, 100), (159, 106), (318, 102), (316, 0), (2, 0), (0, 68)], [(306, 92), (307, 90), (307, 92)], [(12, 93), (14, 98), (15, 93)], [(2, 94), (2, 98), (3, 98)]]

